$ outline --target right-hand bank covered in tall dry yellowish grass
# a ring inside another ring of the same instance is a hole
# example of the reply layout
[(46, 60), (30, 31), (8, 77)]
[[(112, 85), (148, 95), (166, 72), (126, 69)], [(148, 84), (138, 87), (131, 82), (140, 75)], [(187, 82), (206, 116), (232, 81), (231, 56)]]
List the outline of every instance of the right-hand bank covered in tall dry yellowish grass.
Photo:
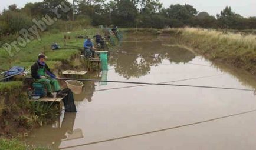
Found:
[(189, 46), (211, 61), (235, 66), (256, 74), (256, 36), (215, 30), (166, 29), (173, 41)]

